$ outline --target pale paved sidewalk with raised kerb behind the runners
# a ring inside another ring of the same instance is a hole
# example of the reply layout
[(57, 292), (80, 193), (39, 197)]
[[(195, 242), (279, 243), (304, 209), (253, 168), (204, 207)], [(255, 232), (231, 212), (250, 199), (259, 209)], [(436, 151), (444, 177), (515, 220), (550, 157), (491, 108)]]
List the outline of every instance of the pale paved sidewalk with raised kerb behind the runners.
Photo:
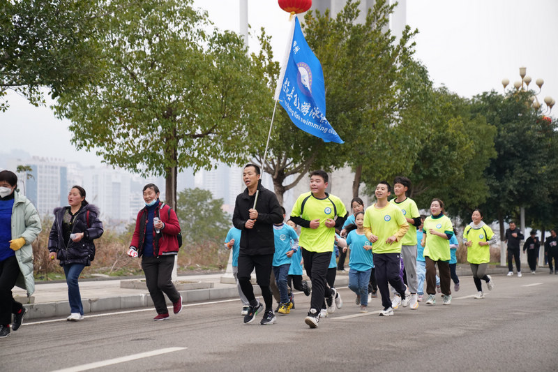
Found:
[[(487, 274), (491, 275), (507, 274), (507, 272), (507, 267), (490, 266), (487, 270)], [(469, 265), (458, 265), (457, 274), (458, 276), (471, 276)], [(539, 267), (537, 269), (537, 274), (548, 274), (548, 269)], [(528, 269), (525, 270), (525, 275), (531, 275)], [(153, 306), (151, 297), (149, 297), (149, 291), (146, 288), (121, 288), (121, 281), (135, 281), (135, 283), (137, 283), (139, 279), (115, 278), (93, 281), (82, 279), (80, 281), (80, 292), (82, 294), (84, 313), (119, 311), (130, 308)], [(232, 276), (225, 276), (225, 273), (178, 276), (177, 283), (178, 282), (203, 283), (205, 284), (204, 286), (211, 287), (179, 290), (182, 295), (183, 303), (234, 299), (239, 295), (236, 285), (234, 284), (234, 279)], [(342, 287), (348, 285), (348, 283), (349, 278), (347, 272), (338, 271), (335, 285)], [(257, 285), (255, 285), (254, 290), (255, 293), (259, 295), (259, 288)], [(13, 295), (17, 297), (17, 301), (27, 303), (27, 295), (24, 290), (16, 287), (13, 290)], [(27, 308), (27, 315), (25, 315), (25, 318), (28, 320), (54, 317), (66, 318), (66, 316), (70, 314), (68, 290), (65, 282), (36, 283), (35, 293), (33, 293), (31, 301), (33, 303), (25, 305)], [(170, 302), (168, 303), (171, 304)]]

